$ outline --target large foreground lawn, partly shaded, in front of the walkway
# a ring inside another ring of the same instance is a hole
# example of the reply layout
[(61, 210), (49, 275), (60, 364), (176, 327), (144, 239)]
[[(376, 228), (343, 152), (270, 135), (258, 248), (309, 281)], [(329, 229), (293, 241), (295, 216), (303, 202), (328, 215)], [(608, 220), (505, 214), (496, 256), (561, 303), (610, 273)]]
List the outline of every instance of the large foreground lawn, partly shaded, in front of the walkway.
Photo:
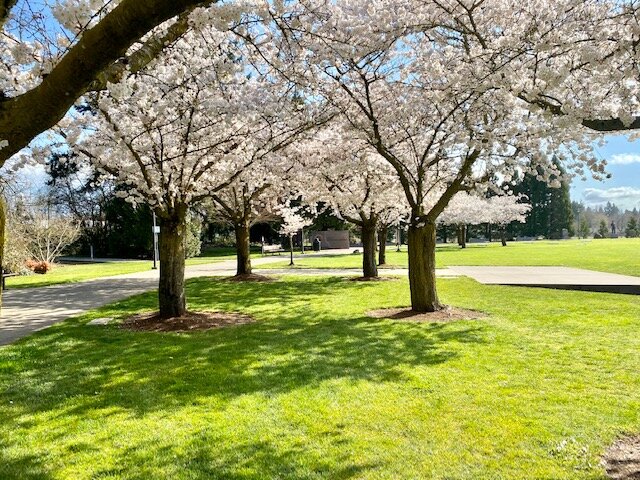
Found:
[(399, 279), (192, 280), (254, 324), (132, 333), (94, 317), (0, 348), (2, 479), (602, 479), (640, 430), (640, 298), (439, 281), (488, 317), (373, 320)]

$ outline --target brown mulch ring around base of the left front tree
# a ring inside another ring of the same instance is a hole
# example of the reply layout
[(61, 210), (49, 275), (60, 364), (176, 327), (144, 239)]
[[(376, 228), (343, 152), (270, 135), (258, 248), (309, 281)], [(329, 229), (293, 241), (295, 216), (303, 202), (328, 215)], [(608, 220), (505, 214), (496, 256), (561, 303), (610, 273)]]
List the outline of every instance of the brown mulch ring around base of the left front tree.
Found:
[(151, 312), (129, 317), (120, 326), (135, 332), (201, 332), (253, 322), (253, 317), (234, 312), (187, 312), (181, 317), (164, 319), (158, 312)]

